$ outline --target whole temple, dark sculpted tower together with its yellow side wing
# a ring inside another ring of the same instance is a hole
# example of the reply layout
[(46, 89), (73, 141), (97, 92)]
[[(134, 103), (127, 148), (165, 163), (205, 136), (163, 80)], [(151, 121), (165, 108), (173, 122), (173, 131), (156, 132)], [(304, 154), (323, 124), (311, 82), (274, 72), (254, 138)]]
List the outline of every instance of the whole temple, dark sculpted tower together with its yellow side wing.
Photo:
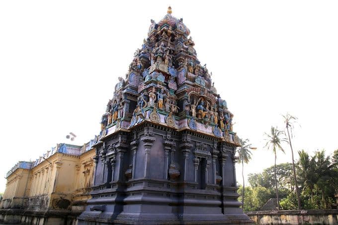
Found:
[(15, 164), (0, 223), (252, 224), (237, 201), (234, 115), (189, 35), (170, 7), (151, 20), (98, 135)]

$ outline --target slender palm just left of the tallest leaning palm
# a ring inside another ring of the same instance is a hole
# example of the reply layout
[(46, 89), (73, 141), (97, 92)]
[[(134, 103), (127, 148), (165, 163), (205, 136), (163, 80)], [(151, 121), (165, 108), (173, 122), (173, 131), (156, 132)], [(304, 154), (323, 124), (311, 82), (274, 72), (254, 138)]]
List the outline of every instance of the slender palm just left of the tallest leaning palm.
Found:
[[(275, 178), (275, 186), (276, 186), (276, 198), (277, 198), (277, 208), (279, 208), (279, 197), (278, 197), (278, 187), (277, 187), (277, 176), (276, 176), (276, 160), (277, 160), (277, 150), (281, 150), (284, 152), (281, 143), (286, 142), (286, 139), (283, 138), (284, 132), (279, 131), (277, 127), (271, 127), (270, 134), (265, 133), (266, 136), (266, 144), (265, 147), (268, 150), (272, 150), (275, 155), (275, 164), (274, 164), (274, 178)], [(284, 152), (285, 153), (285, 152)]]

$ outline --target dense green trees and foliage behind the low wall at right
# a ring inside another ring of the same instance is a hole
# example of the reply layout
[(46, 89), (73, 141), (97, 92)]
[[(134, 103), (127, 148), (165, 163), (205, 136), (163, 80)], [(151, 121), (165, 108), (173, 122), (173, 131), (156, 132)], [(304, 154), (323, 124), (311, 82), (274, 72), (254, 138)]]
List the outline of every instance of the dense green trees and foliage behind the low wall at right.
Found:
[[(333, 155), (326, 155), (324, 150), (317, 150), (312, 155), (298, 151), (296, 176), (300, 190), (302, 209), (331, 209), (338, 193), (338, 150)], [(276, 179), (281, 210), (298, 209), (292, 163), (276, 165)], [(270, 198), (276, 197), (274, 166), (261, 173), (248, 175), (251, 187), (245, 187), (244, 211), (259, 210)], [(242, 194), (242, 186), (239, 194)], [(240, 197), (239, 201), (242, 201)]]

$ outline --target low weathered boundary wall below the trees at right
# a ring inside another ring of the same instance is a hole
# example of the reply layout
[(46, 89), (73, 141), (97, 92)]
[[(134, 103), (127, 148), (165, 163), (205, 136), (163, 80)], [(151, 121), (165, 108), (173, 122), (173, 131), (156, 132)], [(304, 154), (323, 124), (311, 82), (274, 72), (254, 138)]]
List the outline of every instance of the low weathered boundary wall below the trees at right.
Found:
[(337, 225), (338, 210), (256, 211), (247, 215), (259, 225)]

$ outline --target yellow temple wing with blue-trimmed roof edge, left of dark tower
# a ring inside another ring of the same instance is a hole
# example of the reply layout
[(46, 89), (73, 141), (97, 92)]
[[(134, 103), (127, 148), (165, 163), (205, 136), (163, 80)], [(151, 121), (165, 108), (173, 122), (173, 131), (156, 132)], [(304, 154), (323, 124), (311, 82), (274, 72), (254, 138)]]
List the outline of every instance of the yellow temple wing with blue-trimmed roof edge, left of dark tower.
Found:
[(91, 198), (94, 144), (58, 144), (35, 161), (19, 161), (6, 174), (0, 209), (83, 210)]

